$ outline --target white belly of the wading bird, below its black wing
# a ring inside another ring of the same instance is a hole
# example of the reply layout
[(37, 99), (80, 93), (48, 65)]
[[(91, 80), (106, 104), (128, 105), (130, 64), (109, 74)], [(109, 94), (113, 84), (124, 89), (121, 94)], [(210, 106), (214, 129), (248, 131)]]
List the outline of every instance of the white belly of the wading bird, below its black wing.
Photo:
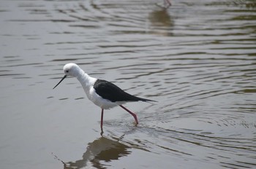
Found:
[(99, 106), (101, 109), (110, 109), (120, 104), (120, 103), (115, 103), (112, 101), (108, 101), (105, 98), (102, 98), (100, 95), (98, 95), (95, 92), (94, 87), (91, 87), (89, 90), (85, 90), (85, 92), (89, 100), (92, 101), (97, 106)]

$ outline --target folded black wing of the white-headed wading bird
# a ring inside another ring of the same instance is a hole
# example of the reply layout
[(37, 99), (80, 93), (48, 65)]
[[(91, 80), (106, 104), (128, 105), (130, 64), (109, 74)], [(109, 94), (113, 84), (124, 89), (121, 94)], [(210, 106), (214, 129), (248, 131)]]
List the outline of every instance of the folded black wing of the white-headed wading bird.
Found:
[(108, 99), (109, 101), (151, 101), (145, 98), (138, 98), (135, 95), (130, 95), (129, 93), (124, 92), (115, 84), (97, 79), (94, 83), (94, 89), (98, 95), (102, 98)]

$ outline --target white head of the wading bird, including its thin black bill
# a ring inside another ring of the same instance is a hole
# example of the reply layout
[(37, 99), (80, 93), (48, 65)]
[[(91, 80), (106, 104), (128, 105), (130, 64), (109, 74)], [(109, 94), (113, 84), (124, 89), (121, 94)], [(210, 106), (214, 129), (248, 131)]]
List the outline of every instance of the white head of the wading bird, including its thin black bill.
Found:
[[(56, 84), (55, 87), (57, 87), (67, 76), (76, 76), (78, 77), (80, 74), (83, 74), (83, 70), (75, 63), (67, 63), (64, 67), (63, 67), (63, 71), (65, 76), (61, 79), (61, 81)], [(53, 87), (53, 89), (55, 88)]]

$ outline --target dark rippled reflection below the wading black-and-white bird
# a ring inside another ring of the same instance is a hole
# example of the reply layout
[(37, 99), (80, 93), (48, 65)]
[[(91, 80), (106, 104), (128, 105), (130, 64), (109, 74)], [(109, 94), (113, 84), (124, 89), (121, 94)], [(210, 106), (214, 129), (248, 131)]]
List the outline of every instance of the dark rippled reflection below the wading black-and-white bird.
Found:
[(130, 149), (129, 146), (102, 136), (88, 144), (81, 160), (63, 162), (58, 157), (55, 157), (64, 164), (64, 169), (86, 167), (106, 168), (103, 162), (110, 162), (111, 160), (118, 160), (119, 157), (127, 156), (130, 154), (128, 149)]

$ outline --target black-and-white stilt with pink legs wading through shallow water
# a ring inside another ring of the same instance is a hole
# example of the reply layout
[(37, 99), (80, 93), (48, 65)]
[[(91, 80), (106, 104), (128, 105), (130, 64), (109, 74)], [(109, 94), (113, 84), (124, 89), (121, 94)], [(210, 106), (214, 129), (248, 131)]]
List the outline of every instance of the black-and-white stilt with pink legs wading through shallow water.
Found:
[[(136, 125), (138, 125), (138, 119), (135, 113), (129, 111), (122, 104), (131, 101), (152, 101), (146, 98), (138, 98), (135, 95), (130, 95), (124, 92), (115, 84), (102, 80), (86, 74), (77, 64), (67, 63), (64, 68), (64, 77), (61, 81), (56, 84), (57, 87), (67, 76), (75, 76), (80, 84), (82, 84), (83, 90), (86, 92), (87, 97), (94, 104), (102, 109), (100, 127), (103, 125), (103, 111), (104, 109), (110, 109), (115, 106), (121, 106), (124, 110), (128, 111), (129, 114), (135, 118)], [(53, 89), (55, 88), (53, 87)]]

